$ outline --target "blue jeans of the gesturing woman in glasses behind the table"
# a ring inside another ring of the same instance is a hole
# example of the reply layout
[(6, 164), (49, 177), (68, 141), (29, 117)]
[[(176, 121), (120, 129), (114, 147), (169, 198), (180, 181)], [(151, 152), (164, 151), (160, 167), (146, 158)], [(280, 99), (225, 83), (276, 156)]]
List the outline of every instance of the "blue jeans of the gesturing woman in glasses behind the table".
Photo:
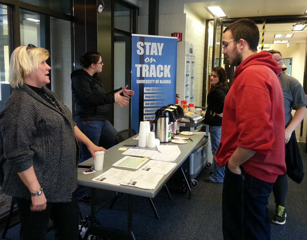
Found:
[[(95, 145), (99, 146), (101, 144), (102, 147), (109, 148), (117, 144), (117, 130), (108, 120), (77, 121), (76, 123), (80, 131), (83, 132)], [(81, 158), (79, 163), (92, 157), (87, 146), (82, 142), (80, 142), (80, 149)], [(76, 199), (79, 200), (86, 195), (87, 187), (81, 187), (80, 190), (76, 192)]]

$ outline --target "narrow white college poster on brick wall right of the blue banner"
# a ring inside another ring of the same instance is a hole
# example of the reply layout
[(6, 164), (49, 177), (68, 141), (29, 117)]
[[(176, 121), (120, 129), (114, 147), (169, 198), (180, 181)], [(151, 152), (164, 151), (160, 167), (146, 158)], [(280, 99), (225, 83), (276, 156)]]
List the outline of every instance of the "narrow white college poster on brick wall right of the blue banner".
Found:
[(194, 45), (190, 42), (185, 42), (185, 82), (183, 99), (187, 100), (187, 103), (194, 103), (195, 101), (195, 59)]

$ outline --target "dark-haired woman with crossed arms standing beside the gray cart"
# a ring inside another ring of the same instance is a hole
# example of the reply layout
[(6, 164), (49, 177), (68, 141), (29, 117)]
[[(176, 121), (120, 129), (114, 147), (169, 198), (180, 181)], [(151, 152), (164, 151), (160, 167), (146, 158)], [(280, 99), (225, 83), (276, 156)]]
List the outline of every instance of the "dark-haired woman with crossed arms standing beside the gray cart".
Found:
[(221, 140), (224, 100), (229, 90), (225, 70), (221, 67), (213, 68), (210, 83), (211, 89), (207, 96), (208, 106), (204, 123), (209, 125), (214, 172), (204, 181), (207, 183), (223, 183), (225, 167), (217, 166), (214, 156)]

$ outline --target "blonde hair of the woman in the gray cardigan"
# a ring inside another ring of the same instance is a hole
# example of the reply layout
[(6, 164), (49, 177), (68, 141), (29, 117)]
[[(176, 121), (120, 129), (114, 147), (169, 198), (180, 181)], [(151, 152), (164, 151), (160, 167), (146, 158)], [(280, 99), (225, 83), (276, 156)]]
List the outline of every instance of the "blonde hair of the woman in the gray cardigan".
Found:
[(21, 87), (25, 77), (39, 67), (41, 62), (49, 58), (49, 52), (45, 48), (31, 47), (28, 45), (17, 47), (10, 60), (9, 82), (12, 87)]

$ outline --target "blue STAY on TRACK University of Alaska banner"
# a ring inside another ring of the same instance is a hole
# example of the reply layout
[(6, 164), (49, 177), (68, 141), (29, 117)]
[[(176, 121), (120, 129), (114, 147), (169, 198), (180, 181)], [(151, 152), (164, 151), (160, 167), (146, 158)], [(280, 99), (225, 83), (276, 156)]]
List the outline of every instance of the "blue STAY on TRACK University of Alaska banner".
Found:
[(176, 101), (177, 37), (132, 34), (131, 128)]

